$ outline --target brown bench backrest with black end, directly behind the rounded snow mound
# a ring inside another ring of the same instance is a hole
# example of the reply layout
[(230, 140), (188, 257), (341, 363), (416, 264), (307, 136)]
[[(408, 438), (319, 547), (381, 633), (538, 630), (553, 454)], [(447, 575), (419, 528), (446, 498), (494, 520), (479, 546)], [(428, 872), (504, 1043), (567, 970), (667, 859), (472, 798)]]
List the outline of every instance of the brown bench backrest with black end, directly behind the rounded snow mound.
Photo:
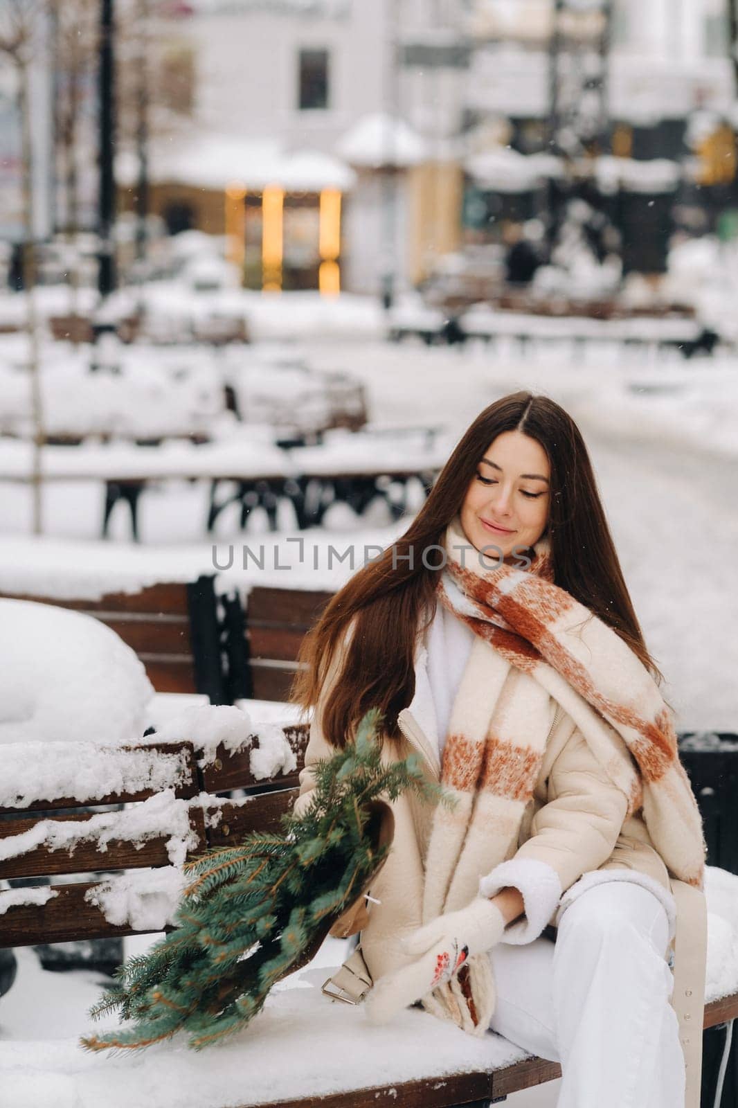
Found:
[[(157, 693), (199, 693), (212, 704), (233, 704), (244, 695), (243, 675), (228, 671), (224, 646), (229, 628), (234, 636), (243, 628), (240, 603), (216, 596), (214, 575), (107, 593), (99, 599), (10, 593), (0, 597), (72, 608), (107, 624), (135, 650)], [(232, 654), (237, 657), (237, 650)]]

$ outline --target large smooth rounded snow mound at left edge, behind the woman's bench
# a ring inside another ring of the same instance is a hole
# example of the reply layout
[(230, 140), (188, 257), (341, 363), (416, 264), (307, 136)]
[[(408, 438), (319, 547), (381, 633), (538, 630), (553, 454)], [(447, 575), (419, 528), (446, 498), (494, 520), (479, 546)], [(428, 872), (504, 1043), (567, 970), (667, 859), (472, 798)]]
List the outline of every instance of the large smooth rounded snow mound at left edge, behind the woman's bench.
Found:
[(0, 743), (114, 743), (143, 730), (146, 671), (92, 616), (0, 599)]

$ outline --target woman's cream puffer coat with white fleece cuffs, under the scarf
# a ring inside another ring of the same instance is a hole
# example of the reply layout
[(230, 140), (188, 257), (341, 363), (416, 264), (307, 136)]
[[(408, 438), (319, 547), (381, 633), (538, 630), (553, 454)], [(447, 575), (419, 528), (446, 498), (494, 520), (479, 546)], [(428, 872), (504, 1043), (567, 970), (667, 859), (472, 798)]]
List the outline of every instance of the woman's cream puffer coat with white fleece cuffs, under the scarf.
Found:
[[(421, 756), (427, 777), (439, 781), (438, 729), (429, 681), (429, 670), (439, 670), (438, 666), (429, 666), (431, 644), (429, 634), (419, 644), (416, 693), (398, 717), (401, 737), (383, 738), (382, 760), (389, 765), (414, 751)], [(300, 792), (294, 808), (297, 815), (310, 802), (315, 787), (311, 767), (335, 753), (321, 729), (320, 708), (341, 657), (339, 649), (310, 724)], [(568, 904), (599, 881), (635, 881), (659, 899), (669, 921), (670, 938), (664, 957), (674, 966), (672, 1004), (679, 1019), (687, 1064), (685, 1105), (698, 1108), (707, 942), (704, 893), (669, 874), (640, 813), (626, 818), (625, 794), (601, 768), (571, 716), (553, 699), (550, 710), (546, 750), (523, 814), (516, 849), (483, 879), (480, 888), (489, 896), (505, 886), (520, 890), (525, 913), (505, 929), (503, 942), (509, 943), (532, 942), (546, 925), (555, 929)], [(432, 806), (407, 791), (391, 807), (393, 844), (369, 890), (372, 901), (361, 896), (331, 929), (331, 934), (339, 937), (361, 932), (361, 950), (372, 981), (408, 961), (399, 940), (422, 922), (423, 858)], [(555, 936), (555, 932), (550, 934)]]

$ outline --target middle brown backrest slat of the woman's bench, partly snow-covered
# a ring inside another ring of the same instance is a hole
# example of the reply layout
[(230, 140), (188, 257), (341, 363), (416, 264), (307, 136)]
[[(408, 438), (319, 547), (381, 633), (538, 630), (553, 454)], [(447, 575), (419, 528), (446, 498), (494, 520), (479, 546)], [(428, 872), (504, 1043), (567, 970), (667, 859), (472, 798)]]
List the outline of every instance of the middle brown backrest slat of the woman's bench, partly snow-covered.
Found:
[[(202, 809), (189, 811), (189, 825), (197, 834), (198, 845), (193, 853), (205, 849), (205, 817)], [(79, 815), (49, 817), (54, 823), (73, 821), (85, 823), (93, 819), (94, 812)], [(0, 841), (13, 834), (30, 831), (39, 820), (11, 820), (0, 822)], [(0, 861), (0, 878), (40, 878), (54, 876), (60, 873), (88, 873), (91, 870), (134, 870), (143, 866), (170, 865), (166, 852), (167, 835), (148, 839), (136, 850), (130, 840), (111, 839), (107, 849), (98, 850), (94, 842), (80, 842), (71, 852), (66, 848), (50, 850), (48, 845), (37, 847), (25, 854)], [(0, 930), (2, 917), (0, 916)]]

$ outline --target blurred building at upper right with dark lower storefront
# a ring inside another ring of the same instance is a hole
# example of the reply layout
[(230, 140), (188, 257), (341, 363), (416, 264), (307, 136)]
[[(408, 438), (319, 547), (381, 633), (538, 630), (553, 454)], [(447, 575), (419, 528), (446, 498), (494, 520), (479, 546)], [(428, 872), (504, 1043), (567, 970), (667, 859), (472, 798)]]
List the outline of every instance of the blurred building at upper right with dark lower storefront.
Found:
[(675, 228), (730, 223), (735, 31), (722, 0), (476, 0), (470, 33), (467, 240), (552, 218), (578, 194), (617, 226), (625, 271), (658, 273)]

